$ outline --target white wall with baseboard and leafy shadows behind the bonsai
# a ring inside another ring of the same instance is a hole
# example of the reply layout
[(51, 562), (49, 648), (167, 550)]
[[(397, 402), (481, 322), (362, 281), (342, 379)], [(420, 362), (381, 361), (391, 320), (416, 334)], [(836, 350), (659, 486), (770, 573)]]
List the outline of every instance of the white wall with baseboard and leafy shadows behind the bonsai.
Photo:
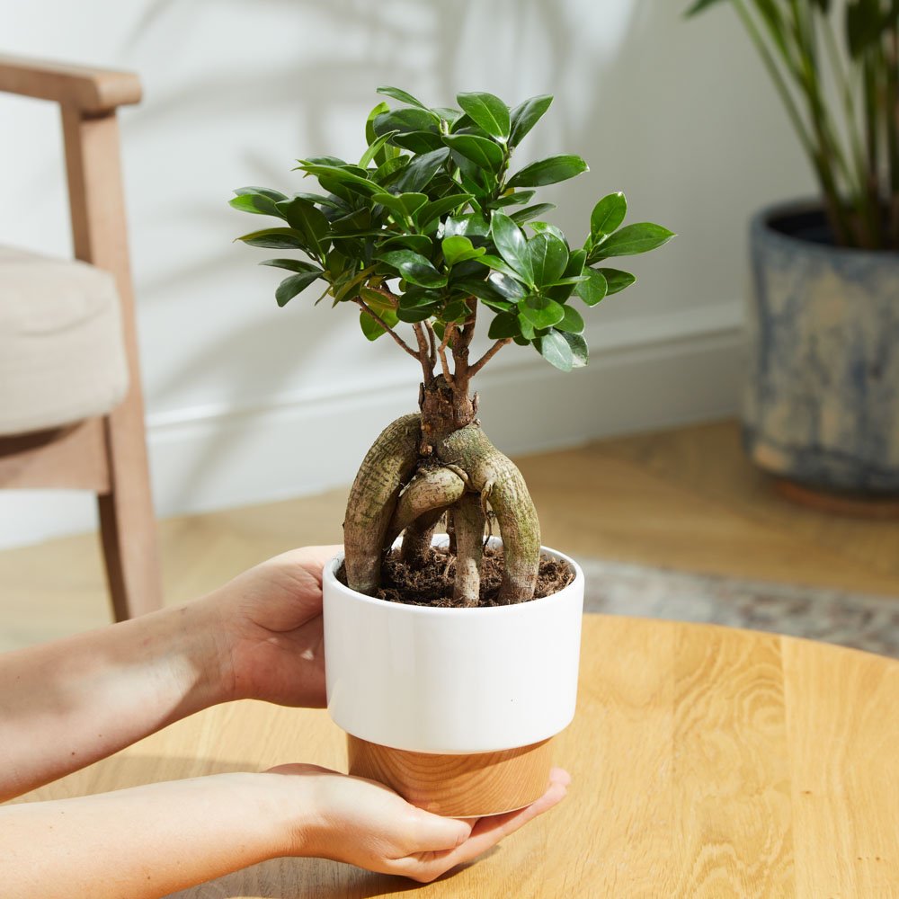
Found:
[[(156, 502), (169, 515), (352, 477), (414, 365), (355, 316), (279, 310), (232, 188), (298, 189), (299, 155), (361, 152), (375, 86), (450, 104), (485, 89), (555, 93), (527, 159), (582, 154), (548, 188), (583, 233), (623, 189), (631, 220), (679, 232), (592, 311), (594, 362), (564, 376), (512, 347), (479, 385), (494, 441), (527, 451), (732, 412), (745, 224), (811, 181), (733, 13), (685, 22), (672, 0), (29, 0), (0, 10), (0, 52), (140, 73), (121, 114)], [(0, 98), (0, 242), (70, 252), (56, 111)], [(310, 291), (311, 292), (311, 291)], [(306, 299), (306, 301), (304, 301)], [(605, 352), (600, 352), (600, 351)], [(543, 398), (549, 413), (530, 407)], [(517, 406), (517, 408), (516, 408)], [(514, 411), (514, 414), (512, 414)], [(0, 545), (90, 527), (81, 494), (0, 495)]]

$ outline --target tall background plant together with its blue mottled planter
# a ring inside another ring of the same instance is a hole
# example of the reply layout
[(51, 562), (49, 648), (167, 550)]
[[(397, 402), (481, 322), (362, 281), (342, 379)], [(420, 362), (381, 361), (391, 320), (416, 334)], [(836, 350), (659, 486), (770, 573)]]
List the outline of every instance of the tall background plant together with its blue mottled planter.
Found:
[(800, 484), (899, 491), (899, 3), (729, 2), (821, 194), (752, 225), (745, 442)]

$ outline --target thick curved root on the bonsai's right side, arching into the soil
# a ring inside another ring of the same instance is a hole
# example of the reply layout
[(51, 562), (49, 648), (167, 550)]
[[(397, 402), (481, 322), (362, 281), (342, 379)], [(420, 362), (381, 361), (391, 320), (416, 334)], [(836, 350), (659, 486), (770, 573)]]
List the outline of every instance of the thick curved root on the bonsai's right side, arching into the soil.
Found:
[[(505, 556), (499, 601), (532, 599), (540, 564), (540, 524), (521, 472), (474, 424), (449, 434), (436, 447), (436, 455), (444, 465), (466, 472), (469, 488), (482, 502), (489, 501), (496, 515)], [(458, 540), (458, 509), (454, 516)]]

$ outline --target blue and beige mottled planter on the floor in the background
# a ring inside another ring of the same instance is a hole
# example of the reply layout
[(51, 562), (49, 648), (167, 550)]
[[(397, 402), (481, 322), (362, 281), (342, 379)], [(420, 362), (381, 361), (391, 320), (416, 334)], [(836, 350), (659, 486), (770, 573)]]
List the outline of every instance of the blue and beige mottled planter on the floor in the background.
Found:
[(826, 243), (810, 204), (752, 221), (743, 442), (775, 475), (899, 493), (899, 254)]

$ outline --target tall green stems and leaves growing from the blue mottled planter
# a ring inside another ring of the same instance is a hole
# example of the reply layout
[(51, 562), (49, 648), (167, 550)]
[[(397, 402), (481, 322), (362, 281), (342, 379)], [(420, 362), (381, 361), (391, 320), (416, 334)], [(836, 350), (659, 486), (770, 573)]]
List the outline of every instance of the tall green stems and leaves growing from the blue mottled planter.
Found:
[(899, 250), (899, 0), (698, 0), (687, 14), (721, 2), (784, 103), (835, 243)]

